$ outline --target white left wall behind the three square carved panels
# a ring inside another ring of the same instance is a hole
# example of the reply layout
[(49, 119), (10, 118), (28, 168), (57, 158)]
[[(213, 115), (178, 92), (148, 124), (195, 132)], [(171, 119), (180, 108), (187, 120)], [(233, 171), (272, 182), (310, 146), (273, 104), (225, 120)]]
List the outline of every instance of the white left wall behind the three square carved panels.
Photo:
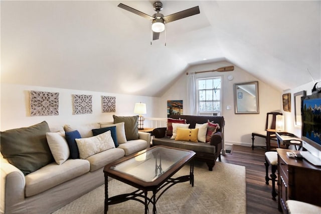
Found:
[[(29, 100), (30, 90), (59, 92), (59, 115), (58, 116), (33, 116), (30, 117)], [(72, 114), (72, 94), (88, 94), (92, 96), (92, 114)], [(101, 96), (116, 97), (116, 112), (102, 113)], [(61, 88), (49, 88), (30, 85), (1, 84), (1, 127), (2, 131), (20, 127), (27, 127), (47, 121), (50, 127), (63, 126), (65, 124), (88, 124), (104, 121), (113, 121), (112, 115), (132, 116), (136, 102), (146, 103), (147, 114), (154, 114), (152, 104), (154, 97), (134, 96), (96, 91), (70, 90)]]

